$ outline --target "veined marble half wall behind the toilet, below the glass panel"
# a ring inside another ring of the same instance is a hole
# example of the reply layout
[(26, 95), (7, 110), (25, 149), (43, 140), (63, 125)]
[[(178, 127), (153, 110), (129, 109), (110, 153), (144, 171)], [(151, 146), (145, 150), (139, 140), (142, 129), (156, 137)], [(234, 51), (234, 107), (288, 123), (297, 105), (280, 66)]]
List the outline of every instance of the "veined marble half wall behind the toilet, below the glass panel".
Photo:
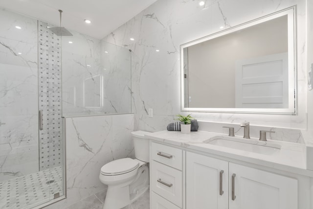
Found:
[(47, 209), (64, 209), (104, 190), (101, 167), (134, 158), (133, 130), (133, 114), (66, 118), (67, 199)]

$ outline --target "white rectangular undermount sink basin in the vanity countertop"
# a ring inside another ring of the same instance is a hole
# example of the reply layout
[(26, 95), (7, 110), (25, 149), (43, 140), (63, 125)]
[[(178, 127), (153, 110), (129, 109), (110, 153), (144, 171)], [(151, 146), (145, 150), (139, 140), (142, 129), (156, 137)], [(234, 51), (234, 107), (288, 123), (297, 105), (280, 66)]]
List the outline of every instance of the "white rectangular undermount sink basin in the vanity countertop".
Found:
[(280, 151), (281, 145), (267, 141), (258, 141), (254, 139), (236, 139), (236, 138), (212, 138), (203, 141), (204, 143), (239, 149), (248, 152), (254, 152), (264, 155), (272, 155)]

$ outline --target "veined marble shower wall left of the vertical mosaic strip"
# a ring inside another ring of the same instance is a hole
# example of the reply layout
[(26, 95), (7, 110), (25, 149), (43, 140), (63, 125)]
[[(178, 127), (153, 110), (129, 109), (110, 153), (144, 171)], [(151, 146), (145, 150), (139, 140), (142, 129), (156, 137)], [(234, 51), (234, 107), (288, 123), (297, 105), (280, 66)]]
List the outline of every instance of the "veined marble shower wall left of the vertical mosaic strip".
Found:
[[(0, 181), (37, 172), (37, 21), (0, 9)], [(16, 28), (20, 26), (21, 29)]]

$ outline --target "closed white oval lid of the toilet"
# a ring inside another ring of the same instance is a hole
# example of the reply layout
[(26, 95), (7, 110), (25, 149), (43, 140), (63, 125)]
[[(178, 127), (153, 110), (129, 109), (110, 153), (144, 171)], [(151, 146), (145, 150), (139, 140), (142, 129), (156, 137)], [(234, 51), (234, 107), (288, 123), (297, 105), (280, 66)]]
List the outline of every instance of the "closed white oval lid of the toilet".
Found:
[(101, 173), (103, 175), (112, 176), (128, 173), (139, 166), (138, 161), (131, 158), (122, 158), (112, 161), (102, 166)]

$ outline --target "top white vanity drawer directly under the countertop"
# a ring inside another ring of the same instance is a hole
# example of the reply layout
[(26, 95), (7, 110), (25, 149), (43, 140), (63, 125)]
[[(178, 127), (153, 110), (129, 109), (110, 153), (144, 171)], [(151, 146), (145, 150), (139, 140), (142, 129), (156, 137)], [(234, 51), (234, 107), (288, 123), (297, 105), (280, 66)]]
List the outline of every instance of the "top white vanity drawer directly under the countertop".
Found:
[(181, 149), (152, 142), (151, 158), (157, 162), (182, 170)]

